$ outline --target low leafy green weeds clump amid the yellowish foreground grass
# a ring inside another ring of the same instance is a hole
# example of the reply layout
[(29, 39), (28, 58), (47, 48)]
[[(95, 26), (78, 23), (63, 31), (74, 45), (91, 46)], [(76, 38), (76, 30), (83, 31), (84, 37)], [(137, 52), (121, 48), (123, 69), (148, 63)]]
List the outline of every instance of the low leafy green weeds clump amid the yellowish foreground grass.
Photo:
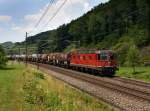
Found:
[(26, 80), (23, 85), (24, 101), (30, 105), (43, 106), (48, 111), (56, 111), (62, 105), (62, 100), (56, 92), (46, 91), (41, 87), (39, 79), (43, 79), (42, 73), (34, 73), (31, 80)]

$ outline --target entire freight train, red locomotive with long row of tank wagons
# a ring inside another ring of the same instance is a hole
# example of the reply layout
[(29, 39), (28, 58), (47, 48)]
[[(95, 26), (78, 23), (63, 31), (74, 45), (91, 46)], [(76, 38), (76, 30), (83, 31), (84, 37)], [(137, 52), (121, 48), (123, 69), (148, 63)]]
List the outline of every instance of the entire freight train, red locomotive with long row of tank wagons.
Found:
[(59, 67), (112, 76), (118, 70), (116, 54), (111, 50), (78, 50), (70, 53), (13, 55), (9, 59), (39, 62)]

